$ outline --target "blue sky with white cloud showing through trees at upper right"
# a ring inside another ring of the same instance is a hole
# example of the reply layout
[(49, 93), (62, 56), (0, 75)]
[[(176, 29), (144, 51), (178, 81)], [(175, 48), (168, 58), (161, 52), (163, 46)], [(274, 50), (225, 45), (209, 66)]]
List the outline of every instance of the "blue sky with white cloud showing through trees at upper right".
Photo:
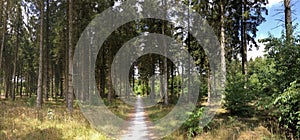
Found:
[[(300, 0), (291, 0), (291, 4), (294, 4), (294, 6), (292, 7), (292, 10), (294, 10), (293, 11), (294, 14), (292, 15), (292, 18), (294, 20), (293, 25), (300, 24), (300, 8), (297, 8), (300, 7)], [(278, 13), (278, 10), (282, 12), (284, 10), (283, 0), (269, 0), (269, 4), (267, 8), (269, 14), (265, 15), (266, 22), (262, 23), (258, 27), (256, 40), (268, 37), (269, 33), (271, 33), (275, 37), (280, 37), (281, 32), (284, 30), (284, 26), (283, 26), (284, 13), (276, 15), (276, 13)], [(282, 20), (282, 21), (278, 21), (278, 20)], [(278, 25), (282, 25), (282, 26), (278, 27)], [(294, 34), (299, 34), (299, 28), (300, 28), (299, 26), (298, 26), (298, 30)], [(253, 48), (252, 51), (248, 52), (248, 60), (250, 58), (263, 56), (264, 55), (263, 51), (264, 51), (263, 44), (260, 44), (259, 50)]]

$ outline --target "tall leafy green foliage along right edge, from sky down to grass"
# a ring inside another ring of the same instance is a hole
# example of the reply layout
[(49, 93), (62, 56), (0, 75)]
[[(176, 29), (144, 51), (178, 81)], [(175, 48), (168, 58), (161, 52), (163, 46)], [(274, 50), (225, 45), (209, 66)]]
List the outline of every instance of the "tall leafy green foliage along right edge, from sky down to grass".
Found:
[[(270, 111), (278, 119), (282, 130), (292, 137), (300, 137), (300, 93), (299, 93), (299, 68), (300, 68), (300, 36), (294, 37), (294, 43), (270, 35), (261, 40), (266, 45), (267, 59), (274, 61), (275, 72), (272, 73), (272, 102), (274, 107)], [(270, 73), (269, 73), (270, 74)], [(265, 78), (265, 79), (268, 79)], [(267, 108), (269, 109), (269, 108)]]

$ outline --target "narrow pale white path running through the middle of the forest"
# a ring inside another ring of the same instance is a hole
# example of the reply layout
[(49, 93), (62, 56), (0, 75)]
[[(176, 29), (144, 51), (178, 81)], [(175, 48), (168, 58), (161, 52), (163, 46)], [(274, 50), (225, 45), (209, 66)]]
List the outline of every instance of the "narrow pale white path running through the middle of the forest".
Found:
[(135, 103), (135, 113), (131, 119), (129, 119), (129, 127), (127, 128), (127, 134), (122, 136), (122, 140), (150, 140), (154, 139), (150, 132), (150, 123), (147, 121), (147, 115), (144, 111), (143, 99), (137, 97)]

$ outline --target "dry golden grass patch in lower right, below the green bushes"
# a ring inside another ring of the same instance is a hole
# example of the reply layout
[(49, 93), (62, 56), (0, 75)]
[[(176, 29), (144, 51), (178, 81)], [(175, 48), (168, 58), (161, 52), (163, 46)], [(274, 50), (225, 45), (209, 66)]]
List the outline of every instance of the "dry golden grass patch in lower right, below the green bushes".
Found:
[(214, 118), (196, 140), (273, 140), (284, 139), (257, 117), (222, 116)]

